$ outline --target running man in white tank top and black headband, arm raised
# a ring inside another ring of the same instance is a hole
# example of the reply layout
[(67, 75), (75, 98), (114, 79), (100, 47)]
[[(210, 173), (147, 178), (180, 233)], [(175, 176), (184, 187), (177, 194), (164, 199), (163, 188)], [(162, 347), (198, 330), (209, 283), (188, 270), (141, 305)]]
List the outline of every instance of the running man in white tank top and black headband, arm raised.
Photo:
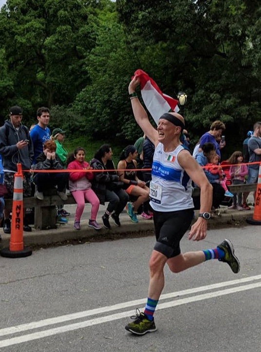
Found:
[(212, 186), (203, 169), (179, 140), (185, 127), (184, 118), (177, 113), (165, 113), (160, 117), (155, 130), (135, 92), (138, 84), (139, 79), (134, 76), (129, 85), (133, 114), (143, 132), (155, 145), (149, 195), (154, 213), (156, 244), (149, 260), (149, 292), (145, 310), (136, 310), (135, 320), (125, 329), (137, 335), (144, 335), (157, 330), (153, 314), (164, 288), (166, 263), (175, 273), (209, 259), (228, 263), (232, 271), (237, 273), (240, 263), (234, 255), (232, 243), (228, 240), (224, 240), (217, 248), (181, 253), (180, 240), (194, 215), (190, 179), (200, 187), (201, 195), (199, 218), (190, 229), (189, 240), (205, 239), (212, 204)]

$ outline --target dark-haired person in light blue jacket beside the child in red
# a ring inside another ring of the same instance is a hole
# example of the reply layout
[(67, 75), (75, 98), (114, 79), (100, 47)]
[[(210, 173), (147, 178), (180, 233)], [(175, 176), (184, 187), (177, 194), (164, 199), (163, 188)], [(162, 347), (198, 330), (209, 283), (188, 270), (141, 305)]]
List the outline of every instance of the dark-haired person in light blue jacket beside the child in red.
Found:
[[(199, 163), (200, 166), (205, 166), (207, 164), (207, 157), (213, 153), (215, 150), (215, 146), (212, 143), (205, 143), (205, 145), (202, 146), (203, 151), (199, 152), (196, 161)], [(206, 173), (206, 170), (204, 170)], [(207, 176), (207, 175), (206, 175)], [(211, 184), (213, 187), (213, 200), (212, 200), (212, 211), (215, 211), (220, 204), (224, 200), (224, 193), (225, 190), (224, 188), (218, 184), (218, 183), (212, 183)], [(193, 197), (193, 202), (194, 202), (194, 207), (195, 209), (200, 208), (200, 198), (199, 197)]]

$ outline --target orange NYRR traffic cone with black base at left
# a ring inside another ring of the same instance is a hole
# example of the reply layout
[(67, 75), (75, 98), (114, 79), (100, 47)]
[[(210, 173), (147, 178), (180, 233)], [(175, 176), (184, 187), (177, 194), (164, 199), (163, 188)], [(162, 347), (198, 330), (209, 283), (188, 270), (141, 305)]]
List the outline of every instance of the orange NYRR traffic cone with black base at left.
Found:
[(23, 246), (23, 175), (21, 164), (15, 173), (14, 196), (12, 208), (11, 236), (9, 248), (0, 250), (0, 255), (7, 258), (28, 257), (32, 250)]

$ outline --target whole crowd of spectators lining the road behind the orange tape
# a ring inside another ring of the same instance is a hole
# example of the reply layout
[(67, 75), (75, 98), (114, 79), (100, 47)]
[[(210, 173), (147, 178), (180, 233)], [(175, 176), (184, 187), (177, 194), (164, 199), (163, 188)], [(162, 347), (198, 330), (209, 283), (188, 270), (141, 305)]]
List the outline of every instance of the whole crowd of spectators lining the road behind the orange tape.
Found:
[[(50, 111), (47, 107), (38, 108), (38, 123), (32, 125), (30, 131), (21, 121), (21, 107), (13, 106), (9, 111), (9, 119), (0, 127), (0, 155), (5, 189), (0, 189), (0, 221), (3, 217), (5, 233), (11, 232), (11, 209), (4, 207), (3, 196), (13, 196), (14, 174), (17, 172), (18, 163), (23, 170), (24, 197), (34, 194), (38, 200), (43, 200), (49, 189), (56, 188), (61, 200), (65, 201), (67, 189), (70, 190), (77, 204), (74, 223), (76, 230), (80, 229), (86, 201), (92, 205), (88, 225), (96, 230), (101, 228), (96, 221), (99, 205), (105, 205), (105, 202), (108, 202), (108, 205), (101, 221), (107, 229), (111, 228), (110, 217), (116, 226), (121, 226), (120, 214), (124, 208), (133, 223), (138, 222), (138, 214), (144, 219), (153, 218), (149, 206), (149, 183), (154, 145), (148, 137), (144, 135), (134, 145), (126, 146), (116, 167), (112, 161), (112, 148), (106, 144), (101, 145), (89, 165), (85, 161), (85, 151), (82, 147), (75, 148), (74, 152), (68, 155), (63, 145), (66, 131), (55, 128), (51, 133), (48, 127)], [(224, 123), (214, 121), (210, 130), (201, 136), (193, 150), (193, 156), (203, 167), (207, 179), (212, 184), (213, 212), (225, 200), (228, 203), (231, 201), (231, 209), (249, 210), (248, 194), (231, 193), (229, 184), (257, 183), (261, 161), (261, 122), (255, 123), (253, 131), (247, 132), (242, 151), (235, 151), (227, 161), (221, 162), (221, 150), (225, 147), (224, 131)], [(180, 141), (184, 147), (190, 148), (190, 136), (186, 130)], [(248, 162), (248, 166), (243, 164)], [(30, 169), (34, 172), (25, 171)], [(72, 171), (55, 171), (63, 169)], [(199, 199), (193, 198), (195, 209), (200, 206)], [(66, 217), (69, 215), (63, 206), (57, 208), (59, 223), (67, 223)], [(26, 217), (23, 229), (32, 230)]]

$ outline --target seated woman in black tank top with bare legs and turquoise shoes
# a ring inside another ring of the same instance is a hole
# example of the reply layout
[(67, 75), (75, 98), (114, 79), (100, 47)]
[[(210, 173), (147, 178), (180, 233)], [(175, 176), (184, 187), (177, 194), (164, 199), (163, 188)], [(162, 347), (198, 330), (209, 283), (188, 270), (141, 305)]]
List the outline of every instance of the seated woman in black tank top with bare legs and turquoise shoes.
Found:
[[(123, 189), (125, 189), (130, 196), (137, 197), (132, 205), (130, 203), (127, 204), (127, 213), (133, 223), (138, 222), (138, 208), (149, 200), (149, 187), (146, 186), (144, 181), (139, 180), (136, 174), (137, 162), (135, 158), (137, 154), (134, 145), (128, 145), (121, 153), (120, 161), (117, 166), (120, 180), (124, 183)], [(122, 172), (121, 170), (125, 171)]]

